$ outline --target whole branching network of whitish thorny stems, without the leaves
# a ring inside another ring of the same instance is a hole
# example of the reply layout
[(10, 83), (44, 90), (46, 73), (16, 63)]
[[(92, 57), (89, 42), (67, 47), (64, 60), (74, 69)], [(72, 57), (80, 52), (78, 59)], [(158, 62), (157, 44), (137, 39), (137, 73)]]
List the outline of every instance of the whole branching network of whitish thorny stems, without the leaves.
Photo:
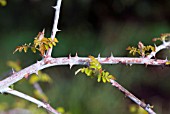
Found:
[[(54, 24), (53, 24), (53, 29), (51, 33), (51, 38), (55, 38), (56, 32), (59, 31), (57, 28), (58, 25), (58, 19), (59, 19), (59, 13), (60, 13), (60, 6), (61, 6), (61, 1), (58, 0), (57, 6), (54, 8), (56, 9), (55, 12), (55, 19), (54, 19)], [(130, 57), (113, 57), (111, 54), (110, 57), (100, 57), (98, 56), (98, 61), (101, 64), (126, 64), (126, 65), (132, 65), (132, 64), (144, 64), (144, 65), (167, 65), (166, 62), (168, 62), (167, 59), (162, 60), (162, 59), (151, 59), (156, 55), (157, 52), (159, 52), (162, 49), (168, 48), (170, 46), (170, 41), (165, 42), (163, 41), (163, 44), (160, 46), (155, 46), (155, 51), (151, 52), (148, 56), (146, 57), (141, 57), (141, 58), (130, 58)], [(18, 82), (24, 77), (28, 77), (31, 74), (36, 73), (38, 75), (38, 71), (51, 67), (51, 66), (57, 66), (57, 65), (69, 65), (70, 68), (73, 65), (88, 65), (89, 58), (87, 57), (78, 57), (76, 54), (75, 57), (71, 57), (69, 55), (68, 57), (60, 57), (60, 58), (52, 58), (51, 57), (52, 53), (52, 48), (50, 48), (47, 53), (46, 57), (42, 59), (41, 61), (37, 61), (37, 63), (30, 65), (19, 72), (14, 72), (11, 76), (7, 77), (4, 80), (0, 81), (0, 92), (1, 93), (10, 93), (13, 95), (16, 95), (18, 97), (24, 98), (28, 101), (31, 101), (38, 106), (42, 106), (46, 108), (47, 110), (59, 114), (56, 110), (54, 110), (49, 104), (43, 103), (41, 101), (38, 101), (28, 95), (25, 95), (21, 92), (18, 92), (16, 90), (12, 90), (9, 88), (10, 85)], [(114, 80), (111, 80), (111, 83), (113, 86), (117, 87), (120, 91), (122, 91), (127, 97), (129, 97), (131, 100), (133, 100), (135, 103), (137, 103), (139, 106), (144, 108), (146, 111), (148, 111), (150, 114), (156, 114), (149, 105), (145, 104), (144, 102), (140, 101), (138, 98), (136, 98), (133, 94), (131, 94), (129, 91), (127, 91), (125, 88), (123, 88), (119, 83), (117, 83)]]

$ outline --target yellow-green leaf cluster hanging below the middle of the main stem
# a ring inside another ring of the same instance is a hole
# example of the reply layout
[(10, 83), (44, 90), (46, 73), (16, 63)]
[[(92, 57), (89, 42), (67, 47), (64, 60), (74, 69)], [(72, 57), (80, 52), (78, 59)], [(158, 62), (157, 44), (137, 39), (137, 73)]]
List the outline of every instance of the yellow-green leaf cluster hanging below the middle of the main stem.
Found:
[(98, 82), (102, 81), (104, 83), (110, 82), (110, 79), (115, 79), (113, 75), (110, 75), (109, 72), (106, 72), (102, 69), (102, 66), (97, 59), (95, 59), (93, 56), (89, 56), (89, 58), (90, 61), (88, 61), (88, 67), (78, 69), (75, 74), (82, 72), (89, 77), (97, 77)]

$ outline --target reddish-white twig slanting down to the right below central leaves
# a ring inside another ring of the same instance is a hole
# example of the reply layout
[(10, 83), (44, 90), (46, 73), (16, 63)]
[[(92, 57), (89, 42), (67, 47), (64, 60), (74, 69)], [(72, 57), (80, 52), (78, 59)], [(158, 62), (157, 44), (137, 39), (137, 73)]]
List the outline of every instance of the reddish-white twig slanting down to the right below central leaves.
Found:
[(126, 90), (123, 86), (121, 86), (118, 82), (115, 80), (110, 80), (111, 84), (118, 88), (121, 92), (125, 94), (125, 96), (129, 97), (132, 101), (134, 101), (136, 104), (141, 106), (144, 110), (146, 110), (149, 114), (156, 114), (149, 104), (145, 104), (143, 101), (139, 100), (137, 97), (135, 97), (132, 93), (130, 93), (128, 90)]

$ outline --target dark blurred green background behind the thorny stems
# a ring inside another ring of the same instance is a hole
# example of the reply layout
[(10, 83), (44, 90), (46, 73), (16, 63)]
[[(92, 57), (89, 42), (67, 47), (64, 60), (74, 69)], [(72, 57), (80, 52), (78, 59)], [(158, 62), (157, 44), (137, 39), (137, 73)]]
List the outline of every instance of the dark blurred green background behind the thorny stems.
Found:
[[(38, 32), (46, 29), (50, 37), (56, 0), (8, 0), (0, 6), (0, 79), (11, 71), (6, 63), (19, 61), (27, 67), (41, 57), (39, 54), (13, 54), (16, 46), (32, 42)], [(139, 41), (153, 44), (152, 38), (170, 32), (169, 0), (63, 0), (57, 33), (59, 44), (53, 57), (130, 56), (126, 47)], [(158, 42), (160, 44), (160, 42)], [(157, 54), (165, 59), (168, 50)], [(134, 104), (110, 84), (97, 83), (85, 75), (74, 75), (80, 66), (56, 66), (44, 69), (53, 79), (52, 84), (42, 83), (44, 92), (53, 107), (64, 107), (71, 114), (131, 114)], [(170, 113), (170, 71), (168, 67), (144, 65), (104, 65), (117, 81), (143, 101), (154, 105), (160, 114)], [(15, 88), (32, 95), (33, 87), (27, 80)], [(18, 98), (0, 95), (0, 103), (11, 109)], [(26, 101), (27, 102), (27, 101)], [(30, 103), (31, 104), (31, 103)], [(9, 109), (8, 109), (9, 110)], [(39, 110), (35, 108), (35, 110)], [(137, 114), (134, 112), (133, 114)], [(138, 113), (139, 114), (139, 113)]]

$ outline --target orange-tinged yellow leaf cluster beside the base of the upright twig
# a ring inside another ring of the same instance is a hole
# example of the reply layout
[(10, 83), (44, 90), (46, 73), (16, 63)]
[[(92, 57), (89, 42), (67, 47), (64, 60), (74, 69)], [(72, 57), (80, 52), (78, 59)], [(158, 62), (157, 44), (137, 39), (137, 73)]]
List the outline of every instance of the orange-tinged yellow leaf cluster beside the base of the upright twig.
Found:
[(47, 51), (49, 48), (52, 48), (53, 46), (56, 46), (56, 43), (58, 43), (57, 38), (52, 39), (52, 38), (44, 37), (44, 30), (43, 30), (43, 32), (39, 32), (37, 37), (34, 38), (34, 42), (32, 45), (31, 43), (29, 43), (29, 44), (17, 46), (13, 53), (17, 51), (19, 52), (24, 51), (26, 53), (27, 50), (30, 48), (32, 52), (36, 53), (37, 51), (39, 51), (43, 56), (45, 54), (45, 51)]

